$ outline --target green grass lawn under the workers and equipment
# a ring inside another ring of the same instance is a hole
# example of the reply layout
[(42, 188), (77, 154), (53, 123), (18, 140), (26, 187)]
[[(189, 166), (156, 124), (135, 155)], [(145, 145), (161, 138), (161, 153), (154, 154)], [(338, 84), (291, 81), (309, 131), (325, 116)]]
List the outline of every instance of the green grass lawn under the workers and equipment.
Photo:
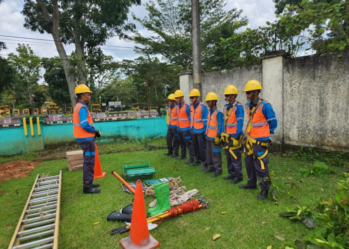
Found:
[[(150, 143), (158, 146), (166, 144), (165, 139)], [(115, 170), (122, 174), (122, 162), (149, 159), (156, 167), (155, 179), (162, 177), (181, 177), (181, 185), (186, 190), (196, 188), (205, 200), (209, 201), (207, 210), (180, 215), (165, 220), (150, 234), (160, 242), (160, 248), (236, 248), (265, 249), (283, 248), (286, 242), (303, 238), (308, 229), (301, 223), (279, 217), (287, 207), (297, 205), (314, 207), (320, 200), (333, 198), (336, 182), (344, 179), (344, 167), (334, 167), (336, 174), (304, 178), (297, 170), (300, 167), (311, 168), (311, 162), (300, 161), (294, 157), (276, 157), (270, 155), (269, 168), (275, 172), (273, 183), (279, 186), (278, 203), (268, 196), (265, 201), (258, 201), (259, 190), (241, 190), (237, 185), (222, 180), (227, 174), (226, 159), (223, 155), (223, 174), (211, 178), (211, 173), (199, 171), (199, 166), (189, 167), (183, 160), (174, 160), (164, 156), (167, 150), (140, 150), (139, 143), (126, 142), (98, 145), (103, 172), (107, 175), (97, 179), (102, 190), (98, 195), (82, 194), (82, 171), (69, 172), (65, 158), (39, 162), (37, 167), (24, 179), (12, 179), (0, 183), (0, 248), (7, 248), (18, 219), (28, 198), (28, 194), (37, 174), (58, 175), (63, 170), (61, 213), (59, 227), (59, 248), (121, 248), (121, 238), (128, 234), (110, 236), (110, 230), (122, 226), (122, 223), (107, 221), (107, 216), (114, 210), (120, 210), (132, 203), (133, 195), (122, 191), (119, 180), (111, 174)], [(131, 149), (128, 149), (131, 148)], [(129, 151), (130, 152), (118, 152)], [(117, 152), (117, 153), (115, 153)], [(34, 154), (32, 157), (35, 157)], [(7, 157), (13, 160), (17, 157)], [(25, 158), (25, 157), (23, 157)], [(2, 159), (1, 159), (2, 160)], [(243, 164), (244, 181), (246, 170)], [(294, 181), (300, 189), (294, 189), (294, 198), (287, 194)], [(153, 197), (145, 198), (146, 209)], [(227, 212), (222, 214), (222, 212)], [(101, 222), (93, 225), (95, 222)], [(265, 225), (264, 224), (265, 222)], [(214, 234), (221, 237), (212, 241)], [(275, 236), (284, 238), (281, 241)]]

